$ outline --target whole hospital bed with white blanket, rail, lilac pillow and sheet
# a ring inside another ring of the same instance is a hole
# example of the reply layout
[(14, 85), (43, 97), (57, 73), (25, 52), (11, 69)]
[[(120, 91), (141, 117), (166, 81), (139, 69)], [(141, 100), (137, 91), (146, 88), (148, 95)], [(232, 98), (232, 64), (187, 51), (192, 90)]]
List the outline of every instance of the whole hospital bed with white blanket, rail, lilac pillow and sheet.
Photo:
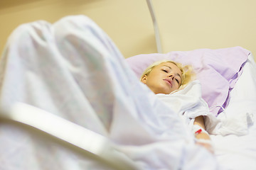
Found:
[[(215, 154), (138, 81), (166, 58), (193, 65)], [(256, 169), (255, 74), (242, 47), (124, 60), (85, 16), (24, 24), (0, 63), (0, 169)]]

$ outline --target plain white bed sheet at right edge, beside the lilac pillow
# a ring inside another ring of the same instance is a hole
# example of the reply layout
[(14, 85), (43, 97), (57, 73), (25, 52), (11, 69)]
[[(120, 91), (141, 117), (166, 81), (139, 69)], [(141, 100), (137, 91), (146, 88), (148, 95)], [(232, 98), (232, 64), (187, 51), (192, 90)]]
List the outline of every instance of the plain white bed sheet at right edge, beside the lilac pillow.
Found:
[(256, 64), (252, 54), (218, 118), (223, 129), (210, 135), (218, 162), (225, 169), (256, 169)]

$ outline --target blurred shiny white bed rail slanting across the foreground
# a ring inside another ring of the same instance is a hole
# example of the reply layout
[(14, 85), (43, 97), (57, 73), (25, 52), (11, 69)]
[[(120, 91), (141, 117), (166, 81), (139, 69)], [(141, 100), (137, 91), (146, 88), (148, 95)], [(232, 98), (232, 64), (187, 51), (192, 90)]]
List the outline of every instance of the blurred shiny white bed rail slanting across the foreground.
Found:
[(139, 169), (131, 159), (118, 152), (106, 137), (28, 104), (16, 103), (10, 109), (1, 108), (0, 120), (13, 120), (46, 132), (79, 147), (88, 156), (99, 157), (99, 164), (112, 169)]

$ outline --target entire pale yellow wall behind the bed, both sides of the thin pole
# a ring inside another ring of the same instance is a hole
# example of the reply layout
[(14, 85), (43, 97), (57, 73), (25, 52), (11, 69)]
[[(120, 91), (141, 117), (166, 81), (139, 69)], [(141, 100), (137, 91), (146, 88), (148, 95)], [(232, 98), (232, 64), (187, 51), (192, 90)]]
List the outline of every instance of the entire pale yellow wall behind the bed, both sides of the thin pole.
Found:
[[(242, 46), (256, 55), (255, 0), (152, 0), (163, 52)], [(0, 52), (21, 23), (84, 14), (124, 57), (157, 52), (146, 0), (1, 0)]]

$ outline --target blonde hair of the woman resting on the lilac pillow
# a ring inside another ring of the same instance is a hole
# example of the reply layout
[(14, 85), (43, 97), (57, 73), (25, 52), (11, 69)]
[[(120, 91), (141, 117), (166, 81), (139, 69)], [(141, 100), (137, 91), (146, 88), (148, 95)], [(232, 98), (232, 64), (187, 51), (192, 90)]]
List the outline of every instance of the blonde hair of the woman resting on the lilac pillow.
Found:
[(144, 72), (142, 73), (142, 76), (140, 77), (140, 81), (142, 81), (142, 78), (145, 75), (149, 75), (149, 73), (152, 71), (152, 69), (154, 69), (154, 67), (158, 66), (161, 63), (164, 62), (171, 62), (173, 64), (175, 64), (178, 69), (181, 70), (181, 86), (179, 87), (179, 89), (182, 89), (184, 86), (186, 86), (186, 84), (188, 84), (190, 81), (192, 81), (193, 79), (196, 78), (196, 74), (195, 72), (193, 72), (193, 68), (191, 65), (185, 65), (183, 66), (181, 63), (178, 62), (174, 62), (171, 60), (160, 60), (157, 62), (154, 62), (153, 64), (149, 65), (149, 67), (147, 67)]

